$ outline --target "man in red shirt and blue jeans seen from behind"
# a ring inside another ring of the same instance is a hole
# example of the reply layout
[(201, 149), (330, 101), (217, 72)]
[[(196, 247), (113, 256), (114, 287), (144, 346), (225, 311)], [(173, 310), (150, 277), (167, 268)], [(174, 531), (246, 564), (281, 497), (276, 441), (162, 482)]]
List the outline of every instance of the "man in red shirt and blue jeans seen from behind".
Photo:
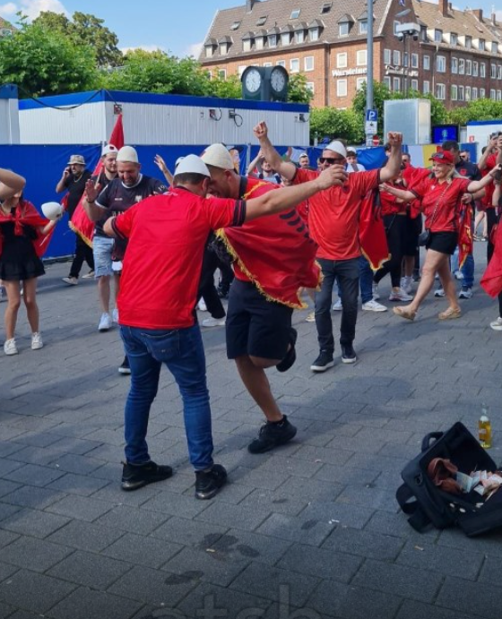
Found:
[(117, 297), (121, 336), (131, 365), (125, 404), (125, 465), (122, 488), (136, 490), (172, 475), (150, 459), (146, 433), (159, 387), (160, 366), (174, 375), (183, 399), (186, 439), (195, 469), (195, 496), (210, 499), (227, 473), (212, 461), (211, 409), (195, 303), (203, 250), (211, 230), (290, 209), (338, 182), (329, 170), (305, 187), (285, 187), (255, 199), (205, 198), (209, 171), (188, 155), (177, 166), (173, 187), (135, 204), (103, 229), (125, 241)]

